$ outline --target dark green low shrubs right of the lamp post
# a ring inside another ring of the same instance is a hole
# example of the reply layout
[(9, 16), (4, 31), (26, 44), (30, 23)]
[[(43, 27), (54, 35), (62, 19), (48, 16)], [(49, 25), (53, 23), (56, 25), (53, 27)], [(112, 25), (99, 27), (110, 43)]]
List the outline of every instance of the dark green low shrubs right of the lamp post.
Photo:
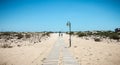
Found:
[(100, 42), (102, 39), (113, 39), (120, 41), (120, 33), (114, 31), (77, 31), (71, 32), (71, 35), (76, 35), (78, 37), (93, 37), (94, 41)]

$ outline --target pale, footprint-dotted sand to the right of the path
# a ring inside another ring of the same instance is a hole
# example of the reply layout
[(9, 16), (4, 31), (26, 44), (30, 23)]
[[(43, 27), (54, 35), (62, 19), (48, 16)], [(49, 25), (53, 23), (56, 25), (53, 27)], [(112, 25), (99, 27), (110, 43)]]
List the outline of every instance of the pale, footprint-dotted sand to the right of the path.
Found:
[[(68, 35), (64, 40), (68, 44)], [(72, 36), (70, 51), (80, 65), (120, 65), (120, 44), (95, 42)]]

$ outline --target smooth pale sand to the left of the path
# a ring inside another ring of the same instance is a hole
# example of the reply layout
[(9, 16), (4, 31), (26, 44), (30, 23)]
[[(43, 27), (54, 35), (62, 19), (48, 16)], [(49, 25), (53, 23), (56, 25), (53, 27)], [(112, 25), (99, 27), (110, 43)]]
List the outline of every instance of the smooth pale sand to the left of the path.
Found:
[(57, 39), (56, 34), (33, 46), (0, 48), (0, 65), (41, 64)]

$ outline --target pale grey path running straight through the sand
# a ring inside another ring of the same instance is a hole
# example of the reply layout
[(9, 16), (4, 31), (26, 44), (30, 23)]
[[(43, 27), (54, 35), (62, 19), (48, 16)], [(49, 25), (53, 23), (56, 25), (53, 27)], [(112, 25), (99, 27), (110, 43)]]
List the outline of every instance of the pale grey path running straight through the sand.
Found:
[(59, 38), (42, 65), (79, 65), (68, 51), (68, 48), (65, 47), (64, 41)]

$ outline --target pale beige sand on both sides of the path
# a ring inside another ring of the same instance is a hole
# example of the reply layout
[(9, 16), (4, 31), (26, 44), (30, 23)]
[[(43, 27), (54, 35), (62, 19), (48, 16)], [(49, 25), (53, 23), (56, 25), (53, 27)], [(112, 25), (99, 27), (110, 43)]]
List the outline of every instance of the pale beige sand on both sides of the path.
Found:
[[(0, 65), (41, 65), (49, 55), (58, 34), (30, 46), (0, 48)], [(69, 36), (63, 35), (68, 45)], [(80, 65), (120, 65), (120, 43), (95, 42), (72, 36), (72, 47), (68, 48)]]

